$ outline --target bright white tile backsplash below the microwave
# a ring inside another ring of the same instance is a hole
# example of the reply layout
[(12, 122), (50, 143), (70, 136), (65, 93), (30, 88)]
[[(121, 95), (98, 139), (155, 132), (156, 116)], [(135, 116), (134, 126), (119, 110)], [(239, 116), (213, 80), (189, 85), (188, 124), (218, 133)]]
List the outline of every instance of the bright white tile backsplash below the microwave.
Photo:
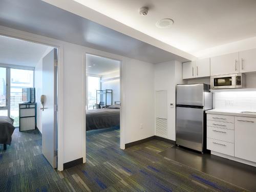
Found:
[(256, 111), (256, 91), (214, 93), (215, 109)]

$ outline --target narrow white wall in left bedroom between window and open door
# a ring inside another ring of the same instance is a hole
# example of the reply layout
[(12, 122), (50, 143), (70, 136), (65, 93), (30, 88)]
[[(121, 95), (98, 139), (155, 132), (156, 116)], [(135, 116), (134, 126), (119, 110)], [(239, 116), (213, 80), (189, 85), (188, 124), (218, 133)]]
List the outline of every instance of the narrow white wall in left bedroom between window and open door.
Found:
[(36, 126), (38, 130), (42, 133), (42, 111), (40, 110), (41, 103), (40, 103), (40, 98), (42, 95), (42, 58), (44, 58), (53, 48), (49, 47), (45, 53), (42, 55), (40, 60), (37, 62), (36, 67), (35, 67), (35, 101), (37, 102), (37, 117), (36, 117)]

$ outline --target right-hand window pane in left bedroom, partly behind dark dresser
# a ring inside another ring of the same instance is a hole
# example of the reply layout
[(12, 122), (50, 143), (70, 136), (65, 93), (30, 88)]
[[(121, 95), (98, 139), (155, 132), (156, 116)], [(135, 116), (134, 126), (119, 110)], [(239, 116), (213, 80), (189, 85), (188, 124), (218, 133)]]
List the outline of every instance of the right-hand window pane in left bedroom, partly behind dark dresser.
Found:
[(22, 88), (34, 87), (34, 71), (11, 69), (10, 72), (10, 116), (14, 126), (19, 126), (18, 103), (22, 103)]

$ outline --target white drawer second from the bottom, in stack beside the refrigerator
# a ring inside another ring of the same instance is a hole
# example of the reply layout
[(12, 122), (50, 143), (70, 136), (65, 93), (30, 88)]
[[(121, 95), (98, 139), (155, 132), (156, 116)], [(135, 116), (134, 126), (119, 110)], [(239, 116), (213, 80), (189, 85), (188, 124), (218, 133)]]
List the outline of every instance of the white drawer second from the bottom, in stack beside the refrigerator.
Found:
[(234, 142), (234, 130), (221, 129), (207, 126), (207, 138), (218, 139), (221, 141)]

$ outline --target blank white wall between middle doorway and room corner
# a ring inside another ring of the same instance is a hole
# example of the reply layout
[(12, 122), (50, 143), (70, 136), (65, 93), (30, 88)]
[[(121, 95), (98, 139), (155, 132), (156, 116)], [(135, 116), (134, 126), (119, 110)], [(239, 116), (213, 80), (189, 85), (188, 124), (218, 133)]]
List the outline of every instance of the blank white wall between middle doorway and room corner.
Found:
[(130, 58), (123, 60), (123, 96), (125, 143), (154, 136), (154, 65), (152, 63)]

